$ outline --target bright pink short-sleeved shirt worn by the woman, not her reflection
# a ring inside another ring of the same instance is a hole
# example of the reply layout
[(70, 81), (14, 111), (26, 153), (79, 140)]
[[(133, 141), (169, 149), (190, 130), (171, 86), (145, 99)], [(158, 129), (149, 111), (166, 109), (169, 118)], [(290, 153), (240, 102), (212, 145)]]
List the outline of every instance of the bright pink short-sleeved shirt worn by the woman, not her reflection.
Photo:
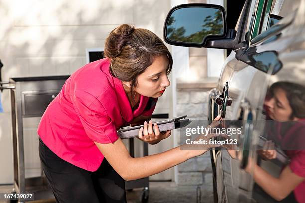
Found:
[(137, 116), (151, 116), (157, 102), (141, 95), (132, 111), (122, 81), (111, 75), (109, 64), (105, 58), (74, 72), (38, 126), (38, 135), (57, 156), (88, 171), (96, 171), (104, 158), (93, 141), (115, 142), (118, 128)]

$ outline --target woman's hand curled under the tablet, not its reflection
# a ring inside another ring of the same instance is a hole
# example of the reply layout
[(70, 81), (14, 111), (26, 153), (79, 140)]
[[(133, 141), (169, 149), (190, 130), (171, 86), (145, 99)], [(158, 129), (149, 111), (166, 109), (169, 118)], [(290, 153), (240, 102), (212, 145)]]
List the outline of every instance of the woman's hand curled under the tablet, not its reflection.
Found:
[(167, 130), (166, 132), (160, 132), (158, 124), (154, 123), (152, 126), (152, 120), (150, 120), (149, 123), (147, 123), (146, 121), (144, 122), (144, 127), (141, 127), (139, 130), (138, 138), (149, 144), (157, 144), (162, 139), (166, 139), (170, 135), (171, 130)]

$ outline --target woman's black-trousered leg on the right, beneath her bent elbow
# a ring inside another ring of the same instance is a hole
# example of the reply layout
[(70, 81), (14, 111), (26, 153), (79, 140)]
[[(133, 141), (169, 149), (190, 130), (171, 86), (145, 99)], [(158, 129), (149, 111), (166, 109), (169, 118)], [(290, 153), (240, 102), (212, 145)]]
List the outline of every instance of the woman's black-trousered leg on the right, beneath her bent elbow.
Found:
[(104, 158), (99, 169), (92, 174), (92, 182), (103, 203), (126, 203), (125, 181)]

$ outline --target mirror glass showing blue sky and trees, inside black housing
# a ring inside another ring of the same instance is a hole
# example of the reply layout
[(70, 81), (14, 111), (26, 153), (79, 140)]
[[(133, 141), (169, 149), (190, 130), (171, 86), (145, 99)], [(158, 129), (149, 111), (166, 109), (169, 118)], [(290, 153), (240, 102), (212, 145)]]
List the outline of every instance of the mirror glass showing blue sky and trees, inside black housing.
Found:
[(172, 12), (166, 26), (174, 42), (202, 44), (207, 36), (224, 34), (224, 17), (218, 8), (185, 7)]

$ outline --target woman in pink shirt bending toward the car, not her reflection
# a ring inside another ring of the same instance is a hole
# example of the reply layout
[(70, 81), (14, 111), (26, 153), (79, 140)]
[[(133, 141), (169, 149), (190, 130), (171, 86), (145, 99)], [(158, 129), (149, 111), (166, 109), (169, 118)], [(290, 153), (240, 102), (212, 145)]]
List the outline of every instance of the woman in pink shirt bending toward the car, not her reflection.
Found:
[[(69, 77), (39, 124), (39, 155), (56, 202), (126, 202), (124, 180), (151, 176), (207, 151), (177, 147), (131, 157), (116, 130), (150, 119), (170, 85), (172, 57), (154, 33), (127, 24), (109, 34), (104, 54)], [(170, 134), (145, 121), (139, 139), (156, 144)]]

